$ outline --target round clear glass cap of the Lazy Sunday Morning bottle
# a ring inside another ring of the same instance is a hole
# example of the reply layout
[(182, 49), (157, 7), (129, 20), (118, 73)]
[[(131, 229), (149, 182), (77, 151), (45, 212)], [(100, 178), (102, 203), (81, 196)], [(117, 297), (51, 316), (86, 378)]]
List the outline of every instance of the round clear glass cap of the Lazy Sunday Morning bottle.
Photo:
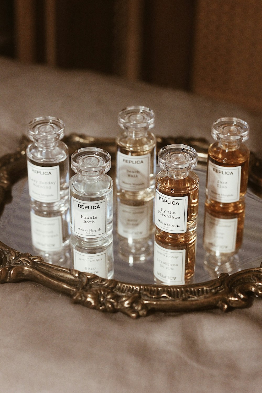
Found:
[(64, 122), (53, 116), (43, 116), (30, 121), (28, 137), (32, 141), (44, 142), (60, 140), (64, 136)]

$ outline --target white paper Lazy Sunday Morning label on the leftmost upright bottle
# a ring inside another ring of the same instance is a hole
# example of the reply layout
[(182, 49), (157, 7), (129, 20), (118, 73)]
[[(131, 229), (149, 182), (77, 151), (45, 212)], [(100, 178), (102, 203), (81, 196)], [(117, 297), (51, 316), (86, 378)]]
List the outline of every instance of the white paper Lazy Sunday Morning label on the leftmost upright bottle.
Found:
[(40, 167), (27, 161), (29, 195), (38, 202), (60, 200), (59, 165)]

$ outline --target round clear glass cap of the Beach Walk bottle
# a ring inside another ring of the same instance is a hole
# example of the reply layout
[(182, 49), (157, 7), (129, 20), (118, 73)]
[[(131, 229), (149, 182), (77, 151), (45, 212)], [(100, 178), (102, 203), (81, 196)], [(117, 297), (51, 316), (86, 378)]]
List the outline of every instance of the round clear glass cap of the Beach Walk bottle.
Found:
[(124, 108), (118, 114), (118, 124), (123, 129), (141, 129), (150, 130), (155, 124), (155, 114), (152, 109), (134, 106)]

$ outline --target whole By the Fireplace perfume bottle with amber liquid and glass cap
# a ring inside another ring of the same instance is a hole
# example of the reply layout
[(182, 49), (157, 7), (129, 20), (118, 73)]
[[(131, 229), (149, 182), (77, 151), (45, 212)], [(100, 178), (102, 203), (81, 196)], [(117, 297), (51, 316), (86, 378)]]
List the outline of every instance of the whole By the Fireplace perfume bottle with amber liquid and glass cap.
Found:
[(166, 245), (187, 242), (194, 235), (198, 217), (199, 179), (192, 171), (197, 152), (187, 145), (163, 147), (158, 163), (164, 170), (156, 176), (156, 238)]

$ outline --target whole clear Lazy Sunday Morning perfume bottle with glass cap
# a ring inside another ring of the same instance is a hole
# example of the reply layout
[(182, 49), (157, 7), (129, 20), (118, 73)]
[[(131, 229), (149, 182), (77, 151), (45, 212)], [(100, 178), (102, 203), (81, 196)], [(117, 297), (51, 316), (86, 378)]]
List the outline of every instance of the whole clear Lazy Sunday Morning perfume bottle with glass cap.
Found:
[(68, 148), (62, 120), (47, 116), (33, 119), (28, 126), (33, 141), (27, 149), (27, 171), (31, 207), (40, 210), (68, 209)]

